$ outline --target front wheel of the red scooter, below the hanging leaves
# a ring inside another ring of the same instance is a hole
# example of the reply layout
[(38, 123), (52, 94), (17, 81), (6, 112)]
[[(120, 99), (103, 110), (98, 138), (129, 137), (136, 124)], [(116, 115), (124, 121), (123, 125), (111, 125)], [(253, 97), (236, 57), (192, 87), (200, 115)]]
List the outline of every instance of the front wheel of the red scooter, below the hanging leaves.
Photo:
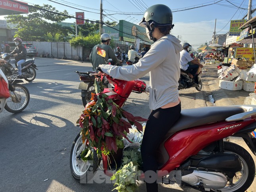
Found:
[[(85, 141), (86, 142), (86, 141)], [(73, 142), (70, 153), (70, 170), (72, 176), (81, 184), (88, 183), (94, 176), (95, 172), (100, 165), (100, 159), (97, 156), (97, 152), (91, 148), (93, 154), (93, 161), (83, 161), (81, 159), (81, 152), (88, 146), (83, 145), (82, 135), (77, 135)], [(80, 154), (78, 154), (80, 150)]]

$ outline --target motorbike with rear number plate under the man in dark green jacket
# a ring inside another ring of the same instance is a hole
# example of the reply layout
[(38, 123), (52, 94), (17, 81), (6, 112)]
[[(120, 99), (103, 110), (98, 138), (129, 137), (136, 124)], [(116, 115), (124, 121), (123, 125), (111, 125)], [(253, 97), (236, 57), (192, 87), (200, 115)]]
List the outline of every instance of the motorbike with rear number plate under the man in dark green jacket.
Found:
[[(114, 63), (112, 61), (112, 59), (108, 59), (108, 62), (106, 64), (123, 66), (122, 63)], [(85, 107), (86, 104), (90, 101), (91, 93), (95, 92), (95, 88), (94, 88), (95, 77), (90, 76), (90, 73), (95, 73), (95, 71), (94, 72), (92, 72), (92, 71), (88, 71), (88, 72), (74, 71), (74, 72), (77, 73), (80, 77), (81, 82), (80, 82), (78, 88), (81, 89), (82, 103), (83, 103), (83, 106)], [(108, 87), (109, 82), (105, 78), (102, 80), (102, 82), (105, 87)]]

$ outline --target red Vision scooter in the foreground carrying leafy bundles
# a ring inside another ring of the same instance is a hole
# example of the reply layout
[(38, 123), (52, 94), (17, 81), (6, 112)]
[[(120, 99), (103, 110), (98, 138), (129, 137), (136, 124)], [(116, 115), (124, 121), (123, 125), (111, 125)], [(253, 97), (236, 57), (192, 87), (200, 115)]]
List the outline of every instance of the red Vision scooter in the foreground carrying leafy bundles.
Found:
[[(115, 88), (105, 88), (104, 93), (120, 107), (132, 91), (143, 92), (146, 88), (139, 79), (123, 81), (106, 77)], [(202, 192), (245, 191), (255, 177), (254, 160), (243, 147), (223, 139), (241, 137), (256, 155), (256, 138), (251, 134), (255, 128), (256, 106), (253, 105), (183, 109), (159, 147), (158, 182), (177, 183)], [(93, 182), (101, 161), (94, 155), (93, 161), (84, 162), (80, 155), (87, 147), (78, 134), (71, 148), (70, 167), (73, 177), (81, 183)], [(104, 155), (102, 162), (104, 173), (111, 176)], [(144, 175), (139, 179), (143, 180)]]

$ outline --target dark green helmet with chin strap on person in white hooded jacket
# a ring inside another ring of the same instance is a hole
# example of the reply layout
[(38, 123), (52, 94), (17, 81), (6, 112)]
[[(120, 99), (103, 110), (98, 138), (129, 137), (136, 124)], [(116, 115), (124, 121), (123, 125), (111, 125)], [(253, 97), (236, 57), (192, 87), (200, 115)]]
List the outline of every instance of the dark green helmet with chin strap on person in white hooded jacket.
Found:
[[(151, 24), (154, 24), (154, 26), (151, 26)], [(171, 9), (163, 4), (153, 5), (146, 10), (139, 25), (148, 28), (150, 39), (156, 41), (156, 39), (152, 37), (154, 27), (171, 25), (172, 28), (174, 26), (172, 24)]]

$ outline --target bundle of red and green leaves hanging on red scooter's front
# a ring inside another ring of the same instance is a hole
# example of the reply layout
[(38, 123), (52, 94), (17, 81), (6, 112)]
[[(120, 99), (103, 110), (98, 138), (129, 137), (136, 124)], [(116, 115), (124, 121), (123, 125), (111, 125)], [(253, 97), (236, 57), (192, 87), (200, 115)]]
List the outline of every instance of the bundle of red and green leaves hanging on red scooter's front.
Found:
[[(108, 95), (102, 92), (102, 82), (95, 78), (96, 94), (92, 94), (92, 101), (85, 106), (80, 116), (79, 125), (83, 139), (87, 140), (90, 147), (97, 148), (100, 156), (117, 152), (123, 148), (123, 138), (127, 138), (129, 128), (135, 125), (138, 131), (142, 131), (141, 121), (147, 121), (142, 117), (134, 117), (131, 113), (121, 109)], [(126, 118), (127, 121), (125, 121)]]

